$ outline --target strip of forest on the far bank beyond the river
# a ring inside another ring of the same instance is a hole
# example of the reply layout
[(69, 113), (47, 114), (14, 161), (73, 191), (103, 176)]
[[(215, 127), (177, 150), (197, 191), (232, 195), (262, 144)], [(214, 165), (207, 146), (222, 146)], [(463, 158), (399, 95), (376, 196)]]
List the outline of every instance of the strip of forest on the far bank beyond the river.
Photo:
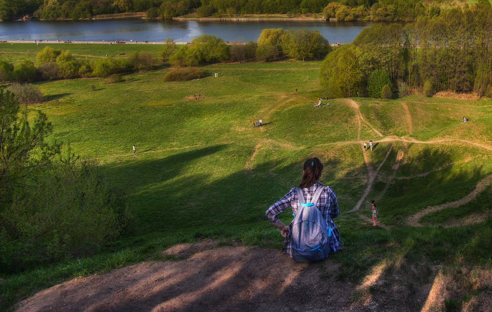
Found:
[[(339, 20), (414, 21), (435, 16), (441, 2), (426, 0), (0, 0), (0, 19), (33, 14), (41, 19), (87, 19), (98, 14), (147, 12), (149, 18), (188, 13), (200, 17), (234, 14), (323, 14)], [(489, 3), (479, 0), (478, 3)], [(466, 6), (467, 4), (465, 4)], [(474, 5), (474, 4), (472, 4)], [(319, 15), (318, 15), (319, 16)]]

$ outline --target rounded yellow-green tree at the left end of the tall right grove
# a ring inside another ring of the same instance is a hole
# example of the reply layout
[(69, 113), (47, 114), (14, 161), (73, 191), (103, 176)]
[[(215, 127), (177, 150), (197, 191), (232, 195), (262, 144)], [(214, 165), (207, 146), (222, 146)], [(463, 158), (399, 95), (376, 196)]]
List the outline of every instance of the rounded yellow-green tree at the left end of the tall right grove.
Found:
[(330, 97), (354, 96), (361, 78), (357, 51), (352, 44), (344, 44), (328, 54), (321, 64), (319, 80)]

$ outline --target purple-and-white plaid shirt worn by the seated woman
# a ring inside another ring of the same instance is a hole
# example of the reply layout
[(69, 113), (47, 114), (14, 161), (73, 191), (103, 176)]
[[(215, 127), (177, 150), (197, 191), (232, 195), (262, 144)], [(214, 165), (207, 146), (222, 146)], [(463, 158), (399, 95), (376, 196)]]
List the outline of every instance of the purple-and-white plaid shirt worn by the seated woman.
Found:
[[(319, 186), (324, 187), (323, 191), (321, 192), (321, 195), (319, 196), (319, 201), (316, 204), (316, 206), (321, 210), (321, 214), (323, 215), (323, 218), (326, 221), (326, 224), (328, 225), (327, 231), (329, 229), (329, 226), (331, 224), (332, 226), (332, 234), (330, 236), (330, 253), (335, 253), (338, 250), (341, 250), (340, 247), (340, 233), (338, 232), (337, 226), (335, 225), (335, 222), (333, 222), (334, 218), (337, 218), (338, 215), (340, 214), (340, 210), (338, 209), (338, 201), (337, 201), (337, 195), (335, 195), (335, 192), (331, 187), (325, 187), (318, 181), (315, 181), (314, 184), (308, 188), (303, 188), (303, 194), (304, 198), (307, 202), (310, 202), (312, 197), (314, 196), (314, 192), (316, 191), (316, 188)], [(284, 211), (286, 208), (291, 207), (292, 212), (295, 215), (299, 208), (301, 208), (301, 200), (297, 198), (298, 195), (296, 193), (296, 188), (293, 187), (285, 196), (280, 198), (275, 204), (270, 206), (268, 210), (266, 211), (265, 215), (267, 216), (268, 220), (270, 223), (274, 224), (278, 221), (278, 214)], [(293, 221), (293, 220), (292, 220)], [(289, 224), (289, 232), (287, 233), (287, 237), (285, 238), (285, 243), (283, 246), (283, 253), (288, 253), (292, 257), (292, 250), (291, 250), (291, 228), (292, 228), (292, 221)]]

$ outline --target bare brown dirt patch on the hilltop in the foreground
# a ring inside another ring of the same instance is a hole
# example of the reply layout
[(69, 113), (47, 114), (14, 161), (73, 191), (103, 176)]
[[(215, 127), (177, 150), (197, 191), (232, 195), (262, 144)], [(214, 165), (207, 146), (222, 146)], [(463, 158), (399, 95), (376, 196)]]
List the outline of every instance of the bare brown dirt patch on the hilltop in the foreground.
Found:
[[(217, 243), (177, 245), (164, 251), (177, 261), (143, 262), (63, 282), (20, 302), (17, 311), (413, 312), (421, 311), (434, 287), (424, 266), (404, 261), (375, 266), (357, 285), (334, 281), (340, 264), (330, 258), (295, 262), (279, 250), (214, 248)], [(431, 276), (438, 270), (432, 267)]]

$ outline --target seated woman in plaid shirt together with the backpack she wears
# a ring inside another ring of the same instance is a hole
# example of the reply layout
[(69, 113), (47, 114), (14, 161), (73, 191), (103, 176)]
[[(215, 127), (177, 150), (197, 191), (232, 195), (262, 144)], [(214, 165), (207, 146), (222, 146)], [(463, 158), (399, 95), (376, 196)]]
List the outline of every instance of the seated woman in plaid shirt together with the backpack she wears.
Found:
[[(288, 253), (296, 261), (320, 260), (341, 250), (340, 233), (333, 221), (340, 214), (337, 195), (331, 187), (318, 181), (322, 171), (323, 164), (317, 157), (308, 158), (301, 184), (291, 188), (265, 212), (270, 223), (285, 237), (282, 253)], [(287, 226), (278, 214), (289, 207), (294, 219)], [(308, 232), (304, 233), (307, 236), (300, 233), (303, 231)]]

